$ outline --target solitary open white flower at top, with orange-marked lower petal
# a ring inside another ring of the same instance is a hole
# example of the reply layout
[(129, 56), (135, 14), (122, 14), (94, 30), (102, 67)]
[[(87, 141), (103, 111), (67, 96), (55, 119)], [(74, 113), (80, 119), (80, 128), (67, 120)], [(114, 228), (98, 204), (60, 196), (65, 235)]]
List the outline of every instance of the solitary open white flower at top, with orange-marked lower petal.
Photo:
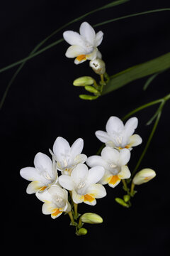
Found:
[(83, 22), (79, 28), (79, 33), (74, 31), (65, 31), (64, 40), (71, 46), (67, 49), (66, 57), (75, 58), (74, 63), (83, 63), (85, 60), (94, 60), (96, 57), (101, 58), (98, 46), (103, 40), (103, 32), (95, 33), (89, 23)]

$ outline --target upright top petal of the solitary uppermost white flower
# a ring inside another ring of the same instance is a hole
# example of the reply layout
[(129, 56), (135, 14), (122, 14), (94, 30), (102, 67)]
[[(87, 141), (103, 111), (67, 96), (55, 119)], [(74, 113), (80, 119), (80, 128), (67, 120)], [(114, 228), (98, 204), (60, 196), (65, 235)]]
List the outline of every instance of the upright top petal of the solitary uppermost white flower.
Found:
[(91, 45), (93, 46), (94, 45), (95, 36), (96, 36), (94, 28), (92, 28), (89, 25), (89, 23), (83, 22), (83, 23), (81, 23), (79, 31), (80, 31), (81, 36), (83, 36), (86, 39), (86, 41), (91, 43)]

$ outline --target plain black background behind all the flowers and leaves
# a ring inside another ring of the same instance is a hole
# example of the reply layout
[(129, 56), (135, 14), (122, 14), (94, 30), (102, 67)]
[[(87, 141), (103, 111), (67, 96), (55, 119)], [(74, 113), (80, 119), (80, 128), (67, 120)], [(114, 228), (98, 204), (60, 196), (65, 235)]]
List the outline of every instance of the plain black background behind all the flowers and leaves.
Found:
[[(109, 1), (4, 1), (0, 9), (1, 58), (5, 67), (26, 57), (45, 37), (68, 21)], [(65, 30), (79, 31), (81, 22), (91, 25), (128, 14), (152, 9), (169, 8), (168, 0), (135, 1), (100, 11), (68, 26)], [(132, 65), (145, 62), (169, 52), (169, 11), (128, 18), (95, 29), (104, 33), (99, 50), (106, 61), (109, 75)], [(62, 38), (62, 32), (49, 43)], [(95, 101), (79, 99), (84, 90), (72, 85), (82, 75), (98, 76), (89, 63), (74, 65), (73, 59), (64, 56), (66, 42), (29, 60), (8, 92), (1, 110), (1, 211), (5, 219), (4, 242), (22, 252), (47, 249), (49, 253), (81, 254), (111, 253), (111, 255), (169, 255), (169, 102), (152, 143), (140, 169), (152, 168), (157, 172), (153, 181), (137, 187), (132, 207), (123, 208), (115, 203), (116, 196), (123, 196), (122, 185), (106, 186), (108, 196), (98, 199), (96, 206), (81, 203), (79, 212), (95, 212), (103, 217), (101, 225), (86, 225), (88, 235), (77, 237), (69, 226), (67, 215), (52, 220), (41, 212), (42, 202), (35, 195), (26, 194), (28, 181), (19, 171), (33, 166), (38, 151), (49, 154), (48, 149), (58, 136), (70, 144), (84, 139), (84, 154), (91, 156), (101, 146), (94, 132), (105, 130), (111, 115), (123, 117), (134, 108), (169, 93), (169, 70), (159, 75), (146, 92), (142, 90), (147, 78), (131, 82), (125, 87), (100, 97)], [(0, 74), (1, 97), (16, 71), (12, 68)], [(137, 134), (143, 143), (132, 150), (130, 170), (135, 167), (147, 142), (152, 126), (146, 122), (157, 106), (138, 112)], [(78, 249), (79, 247), (79, 249)]]

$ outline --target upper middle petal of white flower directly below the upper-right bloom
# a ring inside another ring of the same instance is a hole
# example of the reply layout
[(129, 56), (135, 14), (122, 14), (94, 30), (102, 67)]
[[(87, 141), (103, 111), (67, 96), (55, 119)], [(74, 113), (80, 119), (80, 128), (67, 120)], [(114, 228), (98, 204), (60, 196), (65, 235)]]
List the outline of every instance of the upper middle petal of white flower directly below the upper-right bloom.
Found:
[[(128, 149), (127, 149), (128, 150)], [(117, 149), (112, 149), (109, 146), (104, 147), (101, 151), (101, 157), (108, 163), (108, 164), (117, 164), (119, 160), (119, 151)]]

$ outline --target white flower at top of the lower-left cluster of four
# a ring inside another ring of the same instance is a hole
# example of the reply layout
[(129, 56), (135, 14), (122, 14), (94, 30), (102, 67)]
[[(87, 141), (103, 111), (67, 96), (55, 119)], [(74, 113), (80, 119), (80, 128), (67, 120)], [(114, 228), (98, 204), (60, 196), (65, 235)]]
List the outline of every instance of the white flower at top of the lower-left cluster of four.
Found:
[(81, 154), (84, 147), (83, 139), (77, 139), (72, 146), (62, 137), (57, 137), (53, 145), (57, 169), (64, 171), (64, 174), (70, 174), (72, 169), (79, 163), (84, 163), (87, 159), (85, 154)]

